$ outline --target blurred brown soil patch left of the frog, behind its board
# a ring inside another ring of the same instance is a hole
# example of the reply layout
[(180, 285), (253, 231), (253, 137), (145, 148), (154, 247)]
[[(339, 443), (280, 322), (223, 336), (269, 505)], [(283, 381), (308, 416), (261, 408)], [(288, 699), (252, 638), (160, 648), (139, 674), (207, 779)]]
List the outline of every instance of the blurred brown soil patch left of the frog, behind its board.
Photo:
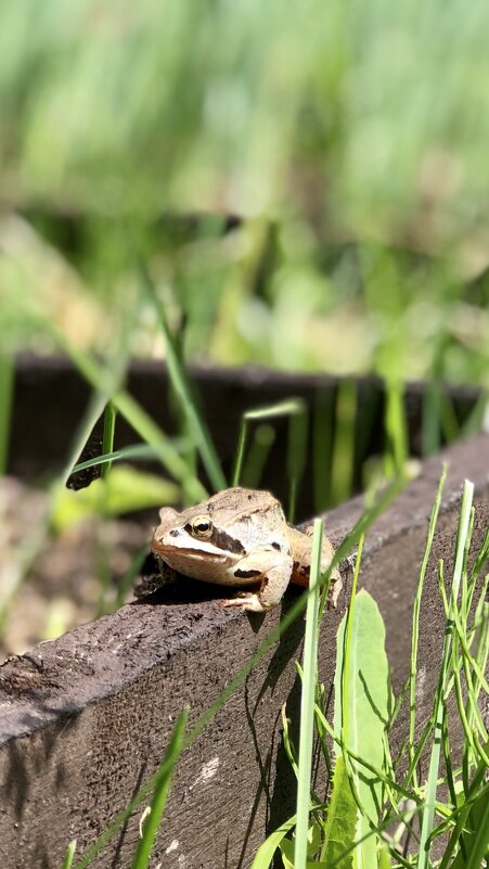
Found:
[[(47, 507), (47, 495), (40, 489), (13, 477), (1, 481), (0, 606), (11, 597)], [(47, 535), (9, 605), (0, 662), (110, 612), (120, 579), (151, 534), (146, 521), (88, 519), (60, 535)], [(128, 592), (123, 602), (132, 598)]]

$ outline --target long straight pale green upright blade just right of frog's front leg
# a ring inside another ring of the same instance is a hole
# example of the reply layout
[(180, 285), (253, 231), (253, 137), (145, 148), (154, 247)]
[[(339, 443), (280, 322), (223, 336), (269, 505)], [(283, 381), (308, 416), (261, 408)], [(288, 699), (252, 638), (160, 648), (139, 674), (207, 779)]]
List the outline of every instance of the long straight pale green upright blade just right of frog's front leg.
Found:
[(305, 869), (307, 861), (312, 741), (314, 727), (314, 700), (318, 659), (318, 604), (319, 576), (321, 573), (321, 545), (323, 537), (322, 520), (314, 520), (312, 555), (307, 599), (306, 636), (304, 640), (303, 691), (300, 695), (300, 741), (297, 782), (297, 826), (295, 838), (294, 866)]

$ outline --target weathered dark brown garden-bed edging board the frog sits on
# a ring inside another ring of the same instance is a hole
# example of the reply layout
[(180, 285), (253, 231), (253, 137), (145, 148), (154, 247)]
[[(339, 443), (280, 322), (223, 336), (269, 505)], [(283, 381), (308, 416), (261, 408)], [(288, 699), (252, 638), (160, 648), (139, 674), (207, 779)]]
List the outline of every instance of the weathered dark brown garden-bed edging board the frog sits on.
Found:
[[(450, 471), (423, 599), (420, 705), (428, 714), (441, 647), (436, 565), (450, 576), (463, 478), (476, 484), (473, 550), (489, 523), (489, 437), (446, 453)], [(387, 627), (394, 683), (408, 672), (411, 612), (440, 459), (370, 532), (361, 584)], [(360, 514), (360, 500), (333, 511), (337, 542)], [(347, 590), (348, 590), (347, 582)], [(293, 596), (294, 592), (291, 592)], [(67, 843), (78, 853), (153, 772), (183, 704), (205, 711), (259, 646), (280, 613), (265, 619), (223, 611), (213, 592), (189, 584), (37, 647), (0, 670), (0, 865), (51, 869)], [(286, 608), (291, 597), (284, 603)], [(345, 600), (321, 638), (321, 676), (331, 686), (334, 637)], [(152, 866), (246, 867), (267, 831), (293, 812), (293, 776), (281, 746), (280, 711), (297, 720), (299, 619), (269, 652), (200, 740), (183, 756)], [(399, 732), (402, 719), (398, 723)], [(130, 865), (140, 813), (95, 860)]]

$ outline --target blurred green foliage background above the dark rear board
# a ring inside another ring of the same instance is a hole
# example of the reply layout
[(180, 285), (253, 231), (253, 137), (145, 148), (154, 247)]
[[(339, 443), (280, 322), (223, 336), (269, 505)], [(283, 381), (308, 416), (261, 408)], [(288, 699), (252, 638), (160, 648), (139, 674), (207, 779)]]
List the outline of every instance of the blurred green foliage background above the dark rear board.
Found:
[(489, 382), (482, 0), (2, 4), (0, 330)]

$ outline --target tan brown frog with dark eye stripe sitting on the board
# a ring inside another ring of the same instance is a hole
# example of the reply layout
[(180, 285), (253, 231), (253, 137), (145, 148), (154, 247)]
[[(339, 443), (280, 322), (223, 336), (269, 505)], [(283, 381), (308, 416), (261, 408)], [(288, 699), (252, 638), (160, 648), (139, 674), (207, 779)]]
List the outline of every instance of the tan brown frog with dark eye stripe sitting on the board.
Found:
[[(312, 528), (299, 531), (285, 519), (280, 501), (270, 493), (233, 486), (181, 512), (159, 511), (159, 525), (151, 549), (159, 562), (192, 579), (241, 589), (221, 601), (266, 613), (276, 606), (288, 584), (308, 586)], [(321, 572), (334, 555), (324, 535)], [(255, 587), (255, 589), (252, 589)], [(329, 605), (336, 606), (342, 589), (339, 570), (331, 575)]]

